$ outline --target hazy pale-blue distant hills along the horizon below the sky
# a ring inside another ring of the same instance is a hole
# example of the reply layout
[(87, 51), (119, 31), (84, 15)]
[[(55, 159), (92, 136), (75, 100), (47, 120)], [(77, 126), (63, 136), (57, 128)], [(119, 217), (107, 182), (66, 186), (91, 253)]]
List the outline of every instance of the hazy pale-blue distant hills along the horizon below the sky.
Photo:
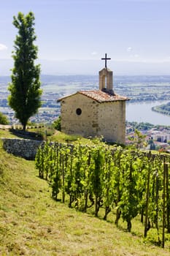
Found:
[[(38, 59), (42, 74), (48, 75), (98, 75), (104, 63), (98, 59), (46, 60)], [(0, 76), (10, 75), (13, 67), (12, 59), (1, 59)], [(108, 64), (114, 75), (169, 75), (169, 62), (133, 62), (116, 61), (112, 59)]]

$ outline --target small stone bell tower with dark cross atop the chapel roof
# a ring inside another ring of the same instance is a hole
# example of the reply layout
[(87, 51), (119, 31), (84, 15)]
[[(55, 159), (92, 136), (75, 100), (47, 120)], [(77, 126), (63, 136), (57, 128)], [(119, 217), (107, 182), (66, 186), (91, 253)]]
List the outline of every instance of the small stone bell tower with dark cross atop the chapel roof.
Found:
[(99, 89), (114, 95), (113, 72), (107, 68), (107, 60), (109, 59), (107, 58), (107, 53), (105, 53), (105, 58), (102, 58), (102, 60), (105, 60), (105, 67), (99, 71)]

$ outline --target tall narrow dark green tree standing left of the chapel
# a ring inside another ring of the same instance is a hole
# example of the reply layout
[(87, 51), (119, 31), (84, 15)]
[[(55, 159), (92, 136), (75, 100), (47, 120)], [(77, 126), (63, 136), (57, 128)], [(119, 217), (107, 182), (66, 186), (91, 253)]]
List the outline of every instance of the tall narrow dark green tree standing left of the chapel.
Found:
[(15, 50), (12, 52), (14, 67), (12, 69), (12, 82), (9, 83), (9, 106), (15, 110), (15, 117), (19, 119), (26, 130), (28, 119), (37, 113), (41, 106), (42, 90), (40, 89), (40, 66), (35, 65), (38, 48), (34, 45), (36, 35), (34, 32), (34, 13), (28, 15), (18, 13), (14, 16), (13, 25), (18, 29), (15, 39)]

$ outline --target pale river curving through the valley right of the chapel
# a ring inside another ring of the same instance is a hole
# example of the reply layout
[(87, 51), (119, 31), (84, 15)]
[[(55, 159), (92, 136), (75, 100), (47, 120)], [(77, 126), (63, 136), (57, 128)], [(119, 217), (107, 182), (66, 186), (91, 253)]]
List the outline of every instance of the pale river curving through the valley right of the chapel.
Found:
[(127, 121), (136, 121), (148, 122), (150, 124), (161, 124), (161, 125), (170, 125), (170, 116), (163, 115), (152, 111), (152, 107), (156, 105), (161, 105), (169, 101), (157, 101), (157, 102), (138, 102), (131, 103), (126, 102), (126, 120)]

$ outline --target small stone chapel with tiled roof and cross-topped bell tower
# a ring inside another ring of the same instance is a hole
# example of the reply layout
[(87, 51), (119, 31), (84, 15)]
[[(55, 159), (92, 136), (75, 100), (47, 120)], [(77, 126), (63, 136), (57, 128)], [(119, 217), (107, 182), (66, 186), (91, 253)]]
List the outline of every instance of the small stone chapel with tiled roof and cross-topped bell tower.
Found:
[(102, 136), (107, 142), (125, 144), (125, 102), (115, 94), (112, 71), (99, 71), (99, 89), (77, 91), (58, 99), (61, 102), (61, 131), (69, 135)]

